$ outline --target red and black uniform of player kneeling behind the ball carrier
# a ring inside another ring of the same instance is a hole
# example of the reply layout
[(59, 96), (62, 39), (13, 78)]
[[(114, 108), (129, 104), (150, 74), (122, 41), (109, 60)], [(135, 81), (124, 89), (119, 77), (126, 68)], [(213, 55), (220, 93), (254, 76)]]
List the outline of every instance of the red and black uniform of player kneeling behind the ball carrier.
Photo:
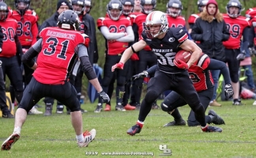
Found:
[[(192, 66), (190, 66), (188, 72), (190, 75), (190, 79), (193, 82), (194, 88), (198, 92), (199, 99), (202, 105), (205, 108), (209, 106), (209, 102), (213, 96), (213, 77), (210, 73), (210, 70), (220, 70), (220, 73), (224, 76), (224, 81), (226, 84), (231, 84), (228, 67), (224, 62), (220, 62), (213, 58), (209, 58), (208, 55), (201, 55), (198, 59), (198, 62), (195, 62)], [(168, 107), (164, 107), (163, 104)], [(161, 107), (163, 111), (171, 111), (175, 108), (175, 111), (171, 113), (174, 117), (175, 121), (182, 119), (179, 114), (178, 107), (182, 107), (186, 105), (186, 101), (179, 96), (177, 92), (172, 91), (168, 96), (164, 98), (164, 102), (161, 103)], [(206, 123), (215, 123), (215, 124), (223, 124), (224, 121), (214, 122), (213, 119), (209, 115), (205, 116)], [(194, 117), (194, 111), (190, 111), (190, 115), (187, 120), (188, 126), (198, 126), (199, 122)]]

